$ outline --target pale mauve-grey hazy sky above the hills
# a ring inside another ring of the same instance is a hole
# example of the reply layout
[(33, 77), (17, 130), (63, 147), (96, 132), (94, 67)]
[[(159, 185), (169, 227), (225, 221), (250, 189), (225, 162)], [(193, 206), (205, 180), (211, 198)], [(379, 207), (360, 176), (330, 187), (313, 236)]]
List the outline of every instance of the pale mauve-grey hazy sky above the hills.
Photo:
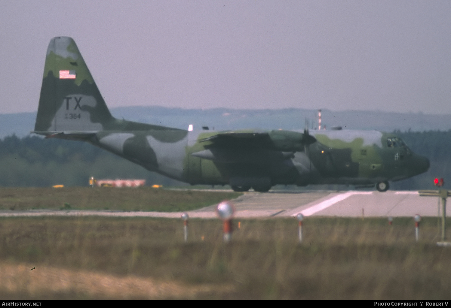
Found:
[(71, 36), (110, 108), (450, 114), (451, 1), (0, 1), (0, 113)]

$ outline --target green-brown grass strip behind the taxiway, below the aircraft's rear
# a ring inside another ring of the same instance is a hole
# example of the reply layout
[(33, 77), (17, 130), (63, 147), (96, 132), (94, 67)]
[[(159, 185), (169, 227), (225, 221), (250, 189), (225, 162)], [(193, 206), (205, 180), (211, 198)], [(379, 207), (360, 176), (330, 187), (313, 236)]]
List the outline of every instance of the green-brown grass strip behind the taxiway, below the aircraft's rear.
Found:
[(241, 194), (226, 191), (165, 190), (151, 187), (2, 187), (0, 210), (45, 208), (178, 212), (203, 208), (239, 195)]

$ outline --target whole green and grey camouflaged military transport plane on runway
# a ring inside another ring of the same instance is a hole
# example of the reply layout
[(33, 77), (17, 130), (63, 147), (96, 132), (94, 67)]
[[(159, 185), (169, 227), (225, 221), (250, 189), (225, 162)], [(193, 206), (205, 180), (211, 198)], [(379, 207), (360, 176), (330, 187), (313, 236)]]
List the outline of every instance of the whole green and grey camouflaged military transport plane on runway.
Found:
[(379, 131), (187, 131), (116, 119), (70, 37), (47, 49), (33, 131), (83, 140), (190, 184), (268, 191), (276, 184), (376, 185), (425, 172), (429, 161)]

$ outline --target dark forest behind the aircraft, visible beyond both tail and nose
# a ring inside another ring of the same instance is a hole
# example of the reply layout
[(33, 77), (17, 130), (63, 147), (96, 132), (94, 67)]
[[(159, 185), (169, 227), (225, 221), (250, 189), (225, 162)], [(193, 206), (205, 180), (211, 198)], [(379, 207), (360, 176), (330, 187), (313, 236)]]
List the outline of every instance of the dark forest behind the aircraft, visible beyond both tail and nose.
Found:
[[(401, 132), (415, 153), (428, 157), (431, 168), (422, 175), (392, 182), (396, 190), (433, 188), (433, 179), (443, 177), (451, 187), (451, 130)], [(88, 178), (143, 178), (147, 185), (180, 185), (167, 177), (84, 142), (42, 139), (38, 136), (7, 136), (0, 139), (0, 186), (87, 186)], [(317, 186), (308, 186), (315, 189)], [(343, 187), (327, 187), (329, 189)]]

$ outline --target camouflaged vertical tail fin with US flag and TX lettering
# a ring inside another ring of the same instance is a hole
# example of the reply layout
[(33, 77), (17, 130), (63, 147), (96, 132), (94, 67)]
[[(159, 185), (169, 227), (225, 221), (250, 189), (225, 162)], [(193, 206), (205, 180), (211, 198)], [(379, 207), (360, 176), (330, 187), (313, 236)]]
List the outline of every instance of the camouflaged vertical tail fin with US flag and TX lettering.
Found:
[(74, 40), (64, 36), (51, 39), (34, 132), (92, 132), (115, 129), (118, 122), (106, 107)]

